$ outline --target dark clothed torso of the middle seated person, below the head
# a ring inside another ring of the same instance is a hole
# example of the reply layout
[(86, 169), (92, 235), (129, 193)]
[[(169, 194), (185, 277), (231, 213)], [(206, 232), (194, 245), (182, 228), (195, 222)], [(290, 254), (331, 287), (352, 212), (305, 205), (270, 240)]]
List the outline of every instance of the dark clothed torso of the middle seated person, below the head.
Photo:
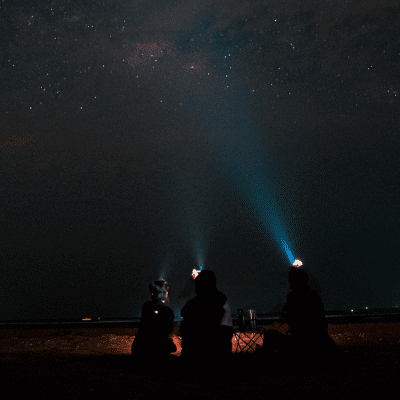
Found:
[(220, 351), (221, 321), (227, 297), (218, 290), (197, 295), (182, 308), (182, 356), (203, 357)]

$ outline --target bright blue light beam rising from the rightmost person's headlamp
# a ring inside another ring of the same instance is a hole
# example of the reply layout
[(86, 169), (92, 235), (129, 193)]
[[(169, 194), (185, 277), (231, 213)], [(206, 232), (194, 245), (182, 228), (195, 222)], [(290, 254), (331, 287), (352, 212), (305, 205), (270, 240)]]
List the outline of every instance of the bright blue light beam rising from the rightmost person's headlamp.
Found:
[[(228, 49), (224, 41), (213, 46), (214, 51), (205, 59), (204, 68), (196, 70), (193, 79), (187, 74), (184, 74), (185, 79), (181, 78), (183, 66), (177, 63), (179, 73), (171, 77), (176, 77), (178, 101), (180, 104), (184, 102), (190, 112), (201, 119), (205, 127), (204, 140), (217, 149), (231, 180), (229, 190), (232, 192), (234, 187), (233, 196), (239, 192), (244, 201), (248, 200), (250, 204), (247, 206), (260, 221), (261, 229), (272, 233), (285, 258), (292, 264), (294, 256), (289, 230), (283, 222), (292, 214), (287, 193), (283, 193), (281, 186), (284, 177), (267, 154), (265, 145), (261, 144), (264, 138), (276, 133), (268, 130), (264, 123), (257, 124), (259, 115), (254, 110), (258, 94), (236, 74), (235, 69), (240, 64), (235, 63), (233, 47)], [(194, 53), (185, 56), (194, 61)], [(266, 96), (265, 92), (263, 98)], [(269, 109), (267, 101), (264, 101), (263, 108), (265, 113), (275, 112)]]

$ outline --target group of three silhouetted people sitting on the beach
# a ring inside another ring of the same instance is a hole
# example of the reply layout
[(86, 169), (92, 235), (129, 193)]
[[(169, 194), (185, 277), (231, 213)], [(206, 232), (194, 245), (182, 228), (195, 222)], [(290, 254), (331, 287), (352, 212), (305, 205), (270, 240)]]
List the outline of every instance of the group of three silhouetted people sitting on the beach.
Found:
[[(323, 302), (308, 286), (304, 269), (289, 272), (291, 292), (283, 307), (281, 321), (289, 325), (286, 335), (269, 329), (264, 334), (262, 353), (295, 361), (329, 359), (337, 346), (328, 334)], [(232, 354), (232, 316), (227, 297), (217, 289), (212, 271), (203, 270), (195, 279), (196, 296), (181, 311), (182, 359), (191, 361), (227, 360)], [(140, 327), (132, 344), (132, 354), (151, 360), (166, 360), (176, 346), (169, 338), (173, 311), (164, 303), (168, 284), (154, 281), (152, 301), (144, 303)]]

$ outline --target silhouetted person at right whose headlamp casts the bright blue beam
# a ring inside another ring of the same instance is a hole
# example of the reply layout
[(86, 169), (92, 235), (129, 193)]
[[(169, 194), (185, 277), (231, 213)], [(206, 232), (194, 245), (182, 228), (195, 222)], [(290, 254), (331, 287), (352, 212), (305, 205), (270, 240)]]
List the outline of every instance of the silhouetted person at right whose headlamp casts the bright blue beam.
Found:
[(292, 291), (283, 307), (282, 322), (289, 325), (286, 336), (269, 330), (264, 337), (265, 353), (277, 352), (292, 360), (329, 357), (336, 344), (328, 334), (324, 305), (320, 296), (308, 286), (308, 274), (292, 267), (289, 272)]

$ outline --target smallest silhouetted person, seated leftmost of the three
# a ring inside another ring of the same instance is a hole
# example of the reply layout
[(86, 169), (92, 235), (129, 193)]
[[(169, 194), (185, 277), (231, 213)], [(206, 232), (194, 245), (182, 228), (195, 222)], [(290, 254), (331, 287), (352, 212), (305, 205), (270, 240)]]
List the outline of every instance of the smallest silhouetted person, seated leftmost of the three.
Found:
[(154, 362), (168, 359), (176, 346), (169, 338), (173, 330), (174, 312), (164, 303), (168, 297), (165, 280), (153, 281), (149, 285), (152, 301), (143, 304), (138, 333), (132, 344), (132, 355), (139, 362)]

